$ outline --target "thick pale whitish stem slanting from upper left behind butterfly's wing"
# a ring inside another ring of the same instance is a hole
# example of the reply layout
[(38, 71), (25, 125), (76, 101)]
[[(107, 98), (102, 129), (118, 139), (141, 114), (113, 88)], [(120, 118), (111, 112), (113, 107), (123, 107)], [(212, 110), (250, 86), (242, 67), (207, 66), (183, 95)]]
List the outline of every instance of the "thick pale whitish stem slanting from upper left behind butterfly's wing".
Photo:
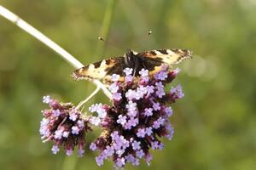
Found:
[[(44, 36), (42, 32), (38, 31), (33, 26), (26, 23), (25, 20), (20, 19), (19, 16), (12, 13), (7, 8), (4, 8), (2, 5), (0, 5), (0, 15), (14, 23), (16, 26), (19, 26), (22, 30), (32, 35), (32, 37), (35, 37), (40, 42), (43, 42), (46, 46), (54, 50), (57, 54), (60, 54), (61, 57), (63, 59), (66, 59), (67, 62), (73, 65), (74, 68), (79, 69), (84, 66), (81, 62), (79, 62), (78, 59), (74, 58), (73, 55), (67, 53), (65, 49), (61, 48), (58, 44), (50, 40), (49, 37)], [(97, 87), (102, 88), (104, 94), (106, 94), (109, 99), (112, 99), (112, 94), (108, 91), (108, 88), (106, 88), (104, 84), (102, 84), (102, 82), (100, 82), (99, 80), (93, 80), (92, 82), (94, 82)]]

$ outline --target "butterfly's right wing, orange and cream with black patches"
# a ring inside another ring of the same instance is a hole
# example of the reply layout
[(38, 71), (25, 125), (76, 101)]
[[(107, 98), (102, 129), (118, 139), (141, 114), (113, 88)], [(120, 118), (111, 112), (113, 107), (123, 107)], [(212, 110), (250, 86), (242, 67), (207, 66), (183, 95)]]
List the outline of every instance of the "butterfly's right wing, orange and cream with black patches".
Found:
[(143, 61), (143, 67), (148, 69), (149, 75), (161, 70), (161, 65), (174, 65), (191, 58), (192, 52), (187, 49), (158, 49), (137, 54)]

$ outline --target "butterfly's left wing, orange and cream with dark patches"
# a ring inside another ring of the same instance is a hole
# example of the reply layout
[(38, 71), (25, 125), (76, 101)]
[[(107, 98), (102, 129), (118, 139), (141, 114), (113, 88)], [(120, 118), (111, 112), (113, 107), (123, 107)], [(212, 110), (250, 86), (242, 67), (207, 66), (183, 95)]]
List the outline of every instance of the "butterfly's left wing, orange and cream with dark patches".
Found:
[(125, 69), (124, 67), (124, 57), (103, 59), (102, 61), (86, 65), (73, 71), (73, 77), (76, 80), (98, 79), (103, 80), (103, 82), (111, 82), (111, 75), (122, 75), (123, 70)]

